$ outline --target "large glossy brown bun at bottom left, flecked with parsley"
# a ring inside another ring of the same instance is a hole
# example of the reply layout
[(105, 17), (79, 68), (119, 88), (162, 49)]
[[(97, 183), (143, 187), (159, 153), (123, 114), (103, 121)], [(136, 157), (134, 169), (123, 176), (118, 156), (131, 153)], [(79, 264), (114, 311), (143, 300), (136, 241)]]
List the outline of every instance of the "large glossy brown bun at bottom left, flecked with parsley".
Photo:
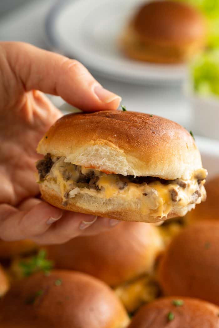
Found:
[(123, 328), (127, 314), (103, 282), (78, 272), (36, 274), (0, 302), (1, 328)]

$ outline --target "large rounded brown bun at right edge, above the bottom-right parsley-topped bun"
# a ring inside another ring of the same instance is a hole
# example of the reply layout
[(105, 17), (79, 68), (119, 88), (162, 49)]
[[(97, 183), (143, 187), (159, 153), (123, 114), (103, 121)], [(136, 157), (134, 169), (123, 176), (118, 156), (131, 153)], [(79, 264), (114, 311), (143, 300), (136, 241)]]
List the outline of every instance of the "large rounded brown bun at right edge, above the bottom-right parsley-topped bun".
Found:
[(219, 305), (219, 222), (199, 222), (177, 235), (159, 265), (165, 295), (202, 298)]

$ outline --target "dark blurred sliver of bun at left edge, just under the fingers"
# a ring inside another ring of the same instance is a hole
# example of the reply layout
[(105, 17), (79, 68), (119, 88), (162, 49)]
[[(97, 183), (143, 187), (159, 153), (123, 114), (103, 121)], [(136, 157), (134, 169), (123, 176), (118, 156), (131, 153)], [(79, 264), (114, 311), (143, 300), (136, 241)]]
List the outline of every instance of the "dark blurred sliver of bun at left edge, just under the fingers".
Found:
[(3, 241), (0, 240), (0, 258), (28, 254), (37, 249), (37, 245), (31, 240)]

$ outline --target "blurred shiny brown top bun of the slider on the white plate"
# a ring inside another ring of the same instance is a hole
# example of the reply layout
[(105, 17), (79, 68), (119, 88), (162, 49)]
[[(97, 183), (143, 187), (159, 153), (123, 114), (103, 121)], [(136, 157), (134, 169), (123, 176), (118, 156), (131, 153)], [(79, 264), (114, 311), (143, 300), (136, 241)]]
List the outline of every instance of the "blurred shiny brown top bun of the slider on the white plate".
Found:
[(192, 6), (173, 1), (146, 3), (137, 12), (133, 27), (146, 39), (170, 44), (190, 43), (205, 35), (202, 15)]

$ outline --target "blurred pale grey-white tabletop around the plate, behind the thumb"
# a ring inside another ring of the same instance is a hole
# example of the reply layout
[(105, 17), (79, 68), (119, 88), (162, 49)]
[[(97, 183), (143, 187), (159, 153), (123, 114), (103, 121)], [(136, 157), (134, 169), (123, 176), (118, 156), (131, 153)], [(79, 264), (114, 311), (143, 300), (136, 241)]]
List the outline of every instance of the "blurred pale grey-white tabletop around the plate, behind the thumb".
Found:
[[(44, 22), (54, 2), (32, 1), (6, 15), (0, 20), (0, 39), (29, 42), (48, 49)], [(190, 129), (190, 106), (179, 86), (139, 86), (95, 77), (105, 88), (119, 94), (128, 110), (158, 114)], [(57, 106), (63, 103), (58, 97), (52, 100)]]

